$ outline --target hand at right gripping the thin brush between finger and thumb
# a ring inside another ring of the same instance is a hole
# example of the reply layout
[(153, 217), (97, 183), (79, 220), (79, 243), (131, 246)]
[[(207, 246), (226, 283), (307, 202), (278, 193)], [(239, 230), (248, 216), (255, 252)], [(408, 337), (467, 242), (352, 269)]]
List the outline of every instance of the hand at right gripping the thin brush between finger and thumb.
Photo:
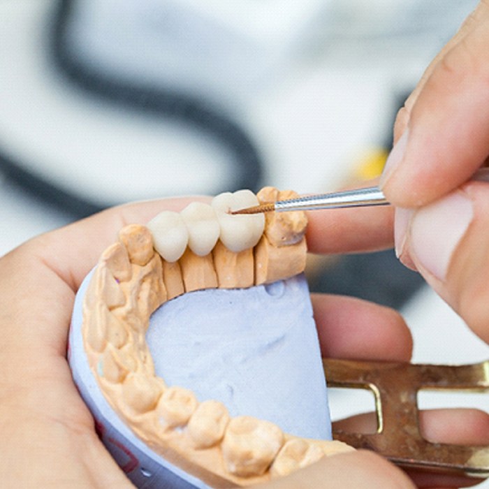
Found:
[[(395, 247), (489, 341), (489, 2), (481, 1), (397, 115), (381, 187)], [(484, 181), (485, 180), (485, 181)]]

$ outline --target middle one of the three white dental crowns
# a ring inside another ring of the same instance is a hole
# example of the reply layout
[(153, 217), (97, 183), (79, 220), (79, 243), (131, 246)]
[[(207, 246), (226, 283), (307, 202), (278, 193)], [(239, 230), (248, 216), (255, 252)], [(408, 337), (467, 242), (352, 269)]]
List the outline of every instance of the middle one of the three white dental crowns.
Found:
[(189, 231), (189, 248), (198, 256), (210, 254), (220, 233), (214, 209), (202, 202), (192, 202), (180, 215)]

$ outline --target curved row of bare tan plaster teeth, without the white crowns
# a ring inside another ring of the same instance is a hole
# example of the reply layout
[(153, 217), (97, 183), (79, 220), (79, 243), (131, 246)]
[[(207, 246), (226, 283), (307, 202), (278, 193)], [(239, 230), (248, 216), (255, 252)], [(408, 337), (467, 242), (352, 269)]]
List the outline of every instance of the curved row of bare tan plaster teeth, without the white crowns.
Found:
[(150, 314), (163, 299), (157, 287), (149, 289), (143, 282), (162, 282), (161, 259), (147, 240), (147, 229), (138, 226), (133, 232), (134, 226), (123, 228), (119, 242), (104, 252), (85, 297), (92, 306), (84, 312), (89, 363), (110, 403), (133, 430), (148, 444), (161, 446), (163, 441), (193, 461), (208, 448), (208, 467), (245, 480), (284, 476), (324, 455), (351, 450), (340, 441), (291, 437), (251, 416), (231, 417), (221, 402), (199, 402), (189, 389), (166, 386), (156, 376), (145, 333)]

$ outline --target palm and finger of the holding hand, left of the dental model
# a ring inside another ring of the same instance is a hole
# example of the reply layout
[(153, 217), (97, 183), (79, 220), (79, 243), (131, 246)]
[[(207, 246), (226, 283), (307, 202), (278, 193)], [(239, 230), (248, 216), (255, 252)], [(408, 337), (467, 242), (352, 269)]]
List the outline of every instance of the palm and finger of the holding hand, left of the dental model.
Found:
[(101, 212), (34, 238), (0, 258), (0, 486), (129, 488), (98, 439), (66, 360), (75, 293), (103, 249), (129, 222), (162, 205)]

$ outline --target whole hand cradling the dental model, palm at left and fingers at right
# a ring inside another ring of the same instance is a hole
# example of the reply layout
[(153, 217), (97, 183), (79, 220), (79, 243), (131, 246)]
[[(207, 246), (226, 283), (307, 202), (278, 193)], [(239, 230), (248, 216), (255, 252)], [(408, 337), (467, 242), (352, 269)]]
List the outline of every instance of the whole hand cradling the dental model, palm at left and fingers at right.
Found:
[[(162, 208), (182, 210), (188, 203), (175, 199), (117, 207), (31, 240), (1, 259), (0, 366), (8, 375), (1, 384), (0, 452), (5, 456), (0, 475), (6, 487), (129, 487), (101, 444), (71, 379), (65, 356), (71, 307), (82, 279), (121, 226), (147, 222)], [(309, 249), (340, 252), (388, 245), (385, 228), (391, 219), (388, 208), (366, 209), (361, 218), (348, 211), (312, 214)], [(327, 241), (322, 239), (325, 228)], [(362, 232), (367, 228), (374, 233)], [(130, 240), (126, 243), (131, 249)], [(144, 255), (144, 243), (139, 249)], [(133, 254), (133, 260), (141, 263), (146, 258)], [(312, 299), (323, 356), (409, 359), (409, 332), (397, 313), (352, 298)], [(423, 413), (421, 423), (430, 439), (453, 443), (488, 439), (487, 417), (478, 411), (430, 411)], [(399, 469), (362, 451), (323, 457), (302, 471), (275, 479), (270, 487), (313, 488), (325, 480), (333, 489), (412, 487)], [(431, 486), (436, 481), (429, 479)]]

